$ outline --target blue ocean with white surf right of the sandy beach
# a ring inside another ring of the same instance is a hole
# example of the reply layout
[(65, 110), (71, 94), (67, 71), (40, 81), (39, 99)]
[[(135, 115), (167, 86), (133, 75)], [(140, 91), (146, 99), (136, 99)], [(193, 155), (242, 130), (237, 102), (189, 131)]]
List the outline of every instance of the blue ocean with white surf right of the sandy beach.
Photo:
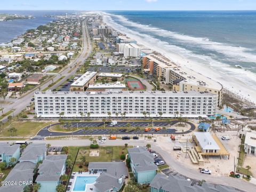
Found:
[[(171, 53), (178, 54), (181, 59), (191, 61), (187, 67), (195, 68), (197, 63), (199, 73), (221, 83), (244, 83), (256, 93), (256, 11), (105, 11), (103, 14), (109, 25), (139, 43), (144, 42), (170, 59)], [(210, 70), (206, 72), (198, 66)], [(223, 84), (229, 88), (235, 85)]]

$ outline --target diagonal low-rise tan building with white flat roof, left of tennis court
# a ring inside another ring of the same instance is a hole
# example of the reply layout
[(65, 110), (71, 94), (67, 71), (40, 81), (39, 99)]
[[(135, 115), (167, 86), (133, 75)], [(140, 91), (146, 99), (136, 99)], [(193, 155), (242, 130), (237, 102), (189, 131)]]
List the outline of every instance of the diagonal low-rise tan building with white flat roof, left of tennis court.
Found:
[(70, 85), (70, 91), (85, 91), (88, 85), (95, 81), (96, 75), (97, 72), (87, 71)]

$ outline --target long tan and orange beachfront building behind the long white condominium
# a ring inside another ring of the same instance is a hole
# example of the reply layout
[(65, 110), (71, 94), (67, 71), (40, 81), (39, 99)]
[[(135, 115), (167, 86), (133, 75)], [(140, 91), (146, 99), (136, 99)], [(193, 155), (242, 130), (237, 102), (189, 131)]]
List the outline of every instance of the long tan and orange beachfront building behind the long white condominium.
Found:
[(158, 55), (146, 55), (142, 59), (142, 66), (154, 75), (158, 81), (172, 84), (175, 91), (210, 92), (218, 95), (218, 106), (222, 105), (222, 90), (220, 83), (197, 73), (194, 70), (179, 67), (175, 63)]

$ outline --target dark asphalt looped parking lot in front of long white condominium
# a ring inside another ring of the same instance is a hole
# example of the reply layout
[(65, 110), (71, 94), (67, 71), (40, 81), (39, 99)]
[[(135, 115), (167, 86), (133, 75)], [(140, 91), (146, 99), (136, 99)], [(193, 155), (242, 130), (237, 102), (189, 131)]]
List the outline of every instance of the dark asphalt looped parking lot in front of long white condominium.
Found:
[[(145, 132), (145, 131), (134, 131), (131, 130), (129, 132), (126, 132), (126, 129), (118, 127), (126, 127), (127, 123), (131, 124), (131, 127), (151, 127), (152, 124), (150, 122), (118, 122), (115, 126), (117, 129), (114, 131), (113, 129), (107, 129), (109, 127), (110, 123), (105, 123), (105, 129), (90, 129), (90, 127), (102, 127), (103, 122), (71, 122), (71, 127), (73, 128), (73, 132), (68, 132), (68, 133), (63, 133), (63, 132), (52, 132), (49, 131), (50, 127), (53, 125), (58, 125), (60, 123), (54, 123), (52, 125), (48, 125), (44, 127), (42, 130), (40, 130), (37, 135), (32, 138), (31, 140), (43, 140), (45, 137), (56, 137), (56, 136), (65, 136), (65, 135), (108, 135), (108, 134), (122, 134), (122, 135), (131, 135), (131, 134), (187, 134), (195, 130), (195, 125), (191, 122), (187, 122), (190, 126), (191, 129), (188, 131), (185, 131), (183, 133), (177, 132), (175, 129), (166, 129), (166, 130), (160, 130), (160, 131), (155, 131), (154, 129)], [(174, 125), (176, 123), (179, 123), (179, 121), (171, 121), (170, 125)], [(167, 122), (154, 122), (153, 126), (158, 127), (158, 126), (170, 126), (169, 123)], [(67, 123), (64, 125), (64, 127), (67, 127)], [(88, 127), (89, 129), (78, 129), (79, 127)], [(76, 131), (75, 131), (76, 130)]]

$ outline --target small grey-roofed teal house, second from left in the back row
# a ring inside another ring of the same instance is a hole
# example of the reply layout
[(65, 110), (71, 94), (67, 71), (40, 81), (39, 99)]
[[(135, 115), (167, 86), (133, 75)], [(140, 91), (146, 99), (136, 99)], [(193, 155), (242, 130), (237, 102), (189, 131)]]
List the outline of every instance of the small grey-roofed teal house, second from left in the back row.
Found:
[(41, 143), (31, 143), (26, 147), (23, 153), (20, 156), (20, 162), (32, 162), (38, 163), (43, 161), (46, 157), (46, 145)]

